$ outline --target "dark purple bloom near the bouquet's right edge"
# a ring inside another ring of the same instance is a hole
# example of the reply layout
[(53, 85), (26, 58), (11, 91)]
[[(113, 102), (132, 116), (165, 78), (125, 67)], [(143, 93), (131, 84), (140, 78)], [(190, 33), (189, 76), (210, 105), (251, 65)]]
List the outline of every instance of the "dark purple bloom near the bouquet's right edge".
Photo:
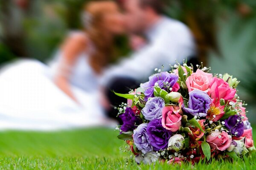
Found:
[(224, 120), (225, 127), (227, 127), (228, 130), (230, 130), (230, 133), (232, 135), (235, 135), (236, 137), (240, 137), (244, 133), (244, 123), (241, 120), (241, 117), (238, 115), (230, 116), (229, 118)]

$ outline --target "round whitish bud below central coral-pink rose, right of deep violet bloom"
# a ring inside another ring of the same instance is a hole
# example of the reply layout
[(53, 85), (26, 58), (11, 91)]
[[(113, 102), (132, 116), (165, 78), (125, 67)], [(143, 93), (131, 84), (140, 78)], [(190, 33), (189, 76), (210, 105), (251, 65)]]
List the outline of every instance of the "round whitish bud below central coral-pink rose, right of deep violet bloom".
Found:
[(184, 137), (180, 134), (176, 134), (170, 137), (168, 141), (168, 147), (170, 150), (175, 150), (177, 152), (183, 148), (184, 143), (185, 143)]

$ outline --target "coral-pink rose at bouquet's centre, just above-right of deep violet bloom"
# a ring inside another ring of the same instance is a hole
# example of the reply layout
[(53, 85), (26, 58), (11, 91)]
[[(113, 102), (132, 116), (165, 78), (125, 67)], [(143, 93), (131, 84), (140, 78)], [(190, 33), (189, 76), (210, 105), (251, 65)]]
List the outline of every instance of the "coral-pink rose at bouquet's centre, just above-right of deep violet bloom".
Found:
[(179, 114), (180, 108), (173, 106), (166, 106), (162, 111), (162, 126), (167, 130), (176, 132), (181, 125), (182, 116)]

